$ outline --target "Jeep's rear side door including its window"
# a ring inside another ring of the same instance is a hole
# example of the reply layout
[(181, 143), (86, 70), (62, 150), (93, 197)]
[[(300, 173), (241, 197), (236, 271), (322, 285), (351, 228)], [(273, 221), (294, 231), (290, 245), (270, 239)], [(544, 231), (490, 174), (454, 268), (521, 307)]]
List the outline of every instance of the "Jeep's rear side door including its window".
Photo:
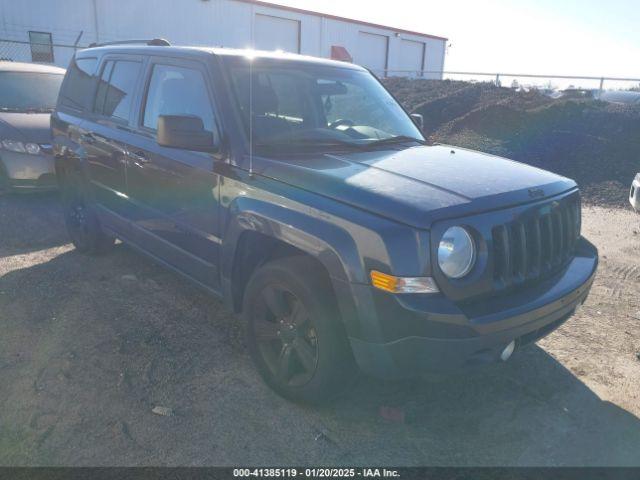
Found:
[(126, 228), (126, 140), (131, 134), (129, 123), (142, 67), (140, 57), (105, 57), (92, 111), (81, 125), (80, 144), (86, 153), (99, 214), (107, 226), (118, 231)]

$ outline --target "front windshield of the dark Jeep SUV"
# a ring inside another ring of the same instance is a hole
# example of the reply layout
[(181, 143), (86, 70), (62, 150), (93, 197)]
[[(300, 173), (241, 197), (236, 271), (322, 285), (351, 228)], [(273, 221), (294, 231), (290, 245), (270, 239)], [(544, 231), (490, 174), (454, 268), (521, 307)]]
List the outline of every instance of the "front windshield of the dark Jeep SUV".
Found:
[(227, 59), (254, 148), (366, 148), (424, 137), (368, 72), (265, 59)]

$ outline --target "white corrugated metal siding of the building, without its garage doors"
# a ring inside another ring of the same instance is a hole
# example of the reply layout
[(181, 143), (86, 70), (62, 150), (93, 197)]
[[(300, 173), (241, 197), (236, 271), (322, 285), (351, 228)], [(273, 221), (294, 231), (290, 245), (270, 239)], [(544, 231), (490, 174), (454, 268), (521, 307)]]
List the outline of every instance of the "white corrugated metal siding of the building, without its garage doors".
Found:
[[(441, 39), (238, 0), (0, 0), (0, 15), (1, 39), (28, 41), (31, 30), (51, 32), (54, 44), (73, 44), (82, 31), (81, 45), (164, 37), (174, 44), (234, 48), (272, 47), (272, 42), (260, 45), (266, 23), (259, 25), (256, 36), (256, 15), (271, 16), (299, 22), (302, 54), (330, 57), (331, 47), (338, 45), (356, 63), (376, 70), (386, 65), (394, 75), (400, 73), (393, 70), (417, 64), (415, 58), (407, 60), (416, 51), (415, 44), (404, 42), (410, 40), (424, 45), (424, 70), (439, 71), (444, 66), (445, 41)], [(386, 37), (386, 58), (373, 58), (376, 54), (363, 48), (363, 33)], [(291, 39), (286, 42), (292, 44)], [(412, 52), (404, 52), (403, 45), (411, 45)], [(55, 63), (66, 66), (73, 52), (59, 48), (55, 53)], [(440, 78), (438, 74), (425, 76)]]

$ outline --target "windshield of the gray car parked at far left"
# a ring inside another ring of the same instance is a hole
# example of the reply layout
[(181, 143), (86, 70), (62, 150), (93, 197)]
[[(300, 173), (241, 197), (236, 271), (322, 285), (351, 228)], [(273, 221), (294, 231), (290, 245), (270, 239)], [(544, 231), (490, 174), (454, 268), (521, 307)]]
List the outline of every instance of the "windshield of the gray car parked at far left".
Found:
[(52, 111), (63, 78), (59, 73), (0, 72), (0, 110)]

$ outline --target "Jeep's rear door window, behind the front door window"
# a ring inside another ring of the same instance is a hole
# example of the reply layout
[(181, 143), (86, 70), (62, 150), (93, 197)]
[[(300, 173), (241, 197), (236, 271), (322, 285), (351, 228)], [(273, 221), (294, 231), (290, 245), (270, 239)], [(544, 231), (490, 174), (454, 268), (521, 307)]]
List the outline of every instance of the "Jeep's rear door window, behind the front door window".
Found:
[(109, 60), (105, 63), (93, 111), (106, 117), (128, 120), (140, 62)]

